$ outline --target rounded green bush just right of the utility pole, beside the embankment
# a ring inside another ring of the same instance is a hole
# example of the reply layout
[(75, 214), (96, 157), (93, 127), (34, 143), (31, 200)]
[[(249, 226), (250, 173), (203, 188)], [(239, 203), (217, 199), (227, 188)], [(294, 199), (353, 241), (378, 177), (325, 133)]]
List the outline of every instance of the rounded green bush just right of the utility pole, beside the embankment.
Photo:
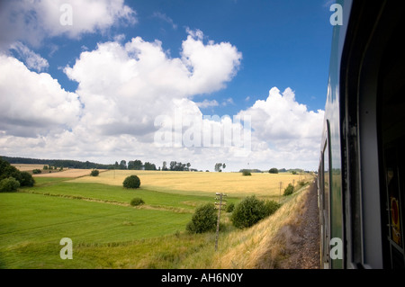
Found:
[(255, 195), (249, 196), (235, 207), (230, 220), (238, 229), (249, 228), (273, 214), (279, 207), (276, 202), (265, 202), (257, 199)]

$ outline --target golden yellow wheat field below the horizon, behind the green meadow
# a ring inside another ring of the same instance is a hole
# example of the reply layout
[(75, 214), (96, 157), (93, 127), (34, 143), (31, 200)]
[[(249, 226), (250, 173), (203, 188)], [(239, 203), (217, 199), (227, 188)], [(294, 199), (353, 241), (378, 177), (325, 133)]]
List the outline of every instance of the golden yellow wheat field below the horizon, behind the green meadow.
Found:
[(227, 193), (232, 196), (256, 194), (262, 197), (275, 197), (280, 193), (279, 183), (283, 183), (282, 193), (288, 184), (298, 184), (300, 180), (310, 181), (312, 175), (204, 173), (171, 171), (110, 170), (99, 176), (85, 176), (74, 182), (122, 185), (125, 177), (138, 175), (144, 189), (166, 193), (206, 194)]

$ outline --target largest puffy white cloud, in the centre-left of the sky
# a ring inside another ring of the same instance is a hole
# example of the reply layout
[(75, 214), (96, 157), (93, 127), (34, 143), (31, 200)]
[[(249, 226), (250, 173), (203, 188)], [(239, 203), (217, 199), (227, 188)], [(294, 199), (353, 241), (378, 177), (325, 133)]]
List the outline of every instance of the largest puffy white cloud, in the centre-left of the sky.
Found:
[(78, 83), (76, 93), (85, 106), (81, 121), (99, 134), (150, 141), (157, 115), (172, 114), (176, 100), (223, 88), (241, 58), (229, 43), (204, 44), (187, 37), (182, 47), (182, 58), (169, 58), (160, 41), (136, 37), (123, 45), (105, 42), (82, 52), (73, 67), (65, 68)]

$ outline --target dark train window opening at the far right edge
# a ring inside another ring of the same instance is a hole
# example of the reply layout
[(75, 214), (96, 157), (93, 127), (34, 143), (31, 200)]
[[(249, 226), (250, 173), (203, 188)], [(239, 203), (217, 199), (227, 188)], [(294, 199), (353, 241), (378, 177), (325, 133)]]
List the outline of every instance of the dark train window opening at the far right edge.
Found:
[(382, 214), (384, 266), (405, 267), (405, 53), (398, 47), (398, 25), (386, 45), (379, 75), (380, 150), (383, 153)]

